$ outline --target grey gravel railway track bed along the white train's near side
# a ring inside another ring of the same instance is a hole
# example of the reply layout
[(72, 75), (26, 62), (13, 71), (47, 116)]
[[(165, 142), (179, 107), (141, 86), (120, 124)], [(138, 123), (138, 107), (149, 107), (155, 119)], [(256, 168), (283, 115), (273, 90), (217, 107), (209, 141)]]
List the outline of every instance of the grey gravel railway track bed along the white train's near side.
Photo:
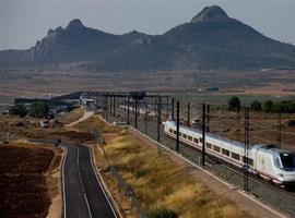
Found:
[[(118, 117), (118, 114), (120, 114)], [(134, 114), (130, 113), (130, 124), (134, 126)], [(157, 124), (156, 119), (154, 121), (148, 121), (145, 123), (144, 116), (138, 117), (138, 130), (142, 133), (149, 135), (153, 140), (157, 140)], [(117, 111), (117, 117), (108, 114), (108, 121), (126, 121), (127, 113), (123, 110)], [(175, 150), (175, 140), (166, 136), (163, 131), (163, 125), (160, 130), (161, 143), (170, 149)], [(188, 160), (199, 165), (201, 158), (201, 152), (196, 148), (191, 148), (182, 143), (180, 143), (180, 154)], [(206, 157), (208, 160), (211, 160)], [(244, 173), (241, 170), (237, 170), (223, 162), (211, 161), (211, 166), (206, 166), (206, 170), (214, 173), (219, 178), (225, 180), (226, 182), (235, 185), (237, 189), (243, 189)], [(252, 174), (249, 177), (249, 193), (260, 199), (262, 203), (272, 206), (275, 209), (282, 210), (295, 217), (295, 191), (285, 191), (279, 186), (275, 186), (260, 178)]]

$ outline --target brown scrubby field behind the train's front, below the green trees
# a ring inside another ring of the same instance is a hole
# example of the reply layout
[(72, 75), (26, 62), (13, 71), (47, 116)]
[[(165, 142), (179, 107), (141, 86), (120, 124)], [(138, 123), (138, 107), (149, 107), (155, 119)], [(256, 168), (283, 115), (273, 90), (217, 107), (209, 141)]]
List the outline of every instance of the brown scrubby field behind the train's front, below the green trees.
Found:
[[(282, 148), (295, 150), (295, 126), (290, 124), (295, 114), (281, 114), (281, 130), (276, 113), (250, 112), (250, 144), (280, 144)], [(244, 113), (223, 112), (211, 117), (211, 132), (244, 142)], [(280, 141), (281, 138), (281, 141)]]

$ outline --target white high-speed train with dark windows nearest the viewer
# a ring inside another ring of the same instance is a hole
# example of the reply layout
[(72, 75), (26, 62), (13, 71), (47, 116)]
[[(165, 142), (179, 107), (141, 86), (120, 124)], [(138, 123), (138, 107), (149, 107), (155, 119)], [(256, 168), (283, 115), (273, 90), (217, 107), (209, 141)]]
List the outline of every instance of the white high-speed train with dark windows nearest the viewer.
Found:
[[(165, 133), (176, 138), (176, 122), (163, 122)], [(180, 125), (179, 141), (202, 149), (202, 133), (196, 129)], [(211, 133), (205, 134), (205, 153), (235, 167), (244, 167), (244, 144)], [(248, 169), (276, 185), (287, 187), (295, 184), (295, 154), (276, 148), (274, 145), (249, 146)]]

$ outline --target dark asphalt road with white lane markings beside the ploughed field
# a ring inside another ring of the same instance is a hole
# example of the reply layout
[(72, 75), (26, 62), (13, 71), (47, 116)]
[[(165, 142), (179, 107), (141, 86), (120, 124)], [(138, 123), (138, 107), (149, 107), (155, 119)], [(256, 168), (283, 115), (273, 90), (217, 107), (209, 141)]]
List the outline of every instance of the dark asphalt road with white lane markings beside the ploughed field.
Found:
[(68, 148), (63, 167), (63, 217), (115, 218), (93, 170), (90, 149), (82, 145), (61, 145)]

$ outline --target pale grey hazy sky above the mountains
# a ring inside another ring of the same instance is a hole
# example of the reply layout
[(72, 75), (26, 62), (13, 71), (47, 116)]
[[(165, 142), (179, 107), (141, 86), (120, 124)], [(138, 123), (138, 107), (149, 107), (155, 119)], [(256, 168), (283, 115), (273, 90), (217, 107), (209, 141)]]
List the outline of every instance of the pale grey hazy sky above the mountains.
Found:
[(64, 27), (76, 17), (114, 34), (163, 34), (212, 4), (271, 38), (295, 44), (295, 0), (0, 0), (0, 50), (27, 49), (49, 28)]

